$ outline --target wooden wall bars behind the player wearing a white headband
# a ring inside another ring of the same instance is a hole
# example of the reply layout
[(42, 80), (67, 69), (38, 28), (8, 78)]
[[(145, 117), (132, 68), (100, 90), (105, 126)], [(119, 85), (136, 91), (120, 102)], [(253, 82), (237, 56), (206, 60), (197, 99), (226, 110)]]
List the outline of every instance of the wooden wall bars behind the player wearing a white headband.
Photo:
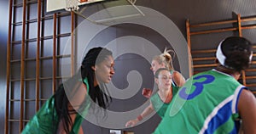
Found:
[[(256, 17), (241, 17), (240, 14), (236, 15), (236, 19), (234, 20), (219, 20), (214, 22), (207, 22), (201, 24), (191, 24), (190, 20), (186, 21), (186, 29), (187, 29), (187, 40), (189, 45), (189, 53), (192, 55), (192, 61), (190, 64), (193, 64), (190, 68), (190, 72), (193, 74), (197, 74), (201, 71), (209, 70), (217, 66), (215, 64), (215, 53), (216, 47), (218, 44), (210, 44), (212, 42), (204, 42), (202, 45), (208, 46), (216, 46), (212, 49), (200, 49), (198, 50), (195, 48), (196, 44), (193, 44), (192, 40), (196, 36), (197, 38), (204, 39), (206, 37), (203, 36), (214, 36), (214, 34), (218, 34), (218, 42), (221, 40), (219, 35), (225, 34), (221, 36), (222, 39), (229, 35), (229, 36), (247, 36), (248, 31), (255, 31), (256, 30)], [(228, 34), (227, 34), (228, 33)], [(200, 40), (200, 39), (199, 39)], [(198, 45), (197, 45), (198, 47)], [(256, 46), (253, 47), (253, 53), (256, 53)], [(250, 90), (256, 94), (256, 54), (253, 54), (253, 62), (250, 69), (242, 71), (240, 82), (249, 87)]]

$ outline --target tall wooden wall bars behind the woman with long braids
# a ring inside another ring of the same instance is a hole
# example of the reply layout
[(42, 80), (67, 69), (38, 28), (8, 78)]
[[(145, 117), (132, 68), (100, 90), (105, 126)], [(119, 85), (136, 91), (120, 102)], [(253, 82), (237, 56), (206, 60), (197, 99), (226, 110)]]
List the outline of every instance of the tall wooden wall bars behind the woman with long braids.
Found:
[(5, 134), (20, 133), (55, 92), (62, 78), (57, 75), (61, 68), (57, 61), (73, 62), (73, 53), (61, 55), (61, 43), (70, 38), (75, 15), (45, 14), (45, 4), (44, 0), (9, 1)]

